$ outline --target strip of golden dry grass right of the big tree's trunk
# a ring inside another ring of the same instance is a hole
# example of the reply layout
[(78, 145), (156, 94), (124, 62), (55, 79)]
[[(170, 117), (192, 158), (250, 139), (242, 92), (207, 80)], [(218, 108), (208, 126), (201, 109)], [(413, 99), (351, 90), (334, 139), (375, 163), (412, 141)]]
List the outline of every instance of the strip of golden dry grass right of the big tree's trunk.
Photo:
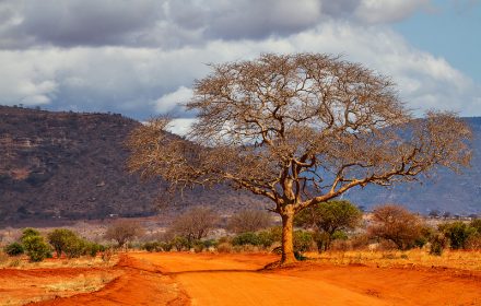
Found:
[(438, 267), (481, 271), (481, 251), (446, 250), (442, 256), (430, 255), (427, 250), (407, 251), (326, 251), (309, 252), (308, 258), (335, 264), (366, 264), (383, 268), (390, 267)]

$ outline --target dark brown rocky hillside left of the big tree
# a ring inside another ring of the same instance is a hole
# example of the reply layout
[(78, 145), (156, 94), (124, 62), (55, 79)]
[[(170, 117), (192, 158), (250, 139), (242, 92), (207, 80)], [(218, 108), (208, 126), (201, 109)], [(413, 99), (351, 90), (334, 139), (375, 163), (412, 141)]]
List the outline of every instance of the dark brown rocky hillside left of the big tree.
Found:
[(227, 212), (257, 203), (226, 188), (165, 199), (162, 181), (142, 183), (125, 170), (124, 141), (138, 125), (117, 114), (0, 106), (0, 222), (143, 216), (199, 203)]

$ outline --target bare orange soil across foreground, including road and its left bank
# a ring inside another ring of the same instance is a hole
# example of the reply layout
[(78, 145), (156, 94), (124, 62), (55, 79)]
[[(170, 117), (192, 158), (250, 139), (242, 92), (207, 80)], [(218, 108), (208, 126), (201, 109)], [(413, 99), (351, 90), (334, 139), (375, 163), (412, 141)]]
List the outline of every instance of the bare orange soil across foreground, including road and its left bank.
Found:
[(481, 275), (474, 272), (315, 262), (257, 271), (275, 259), (251, 254), (129, 254), (114, 268), (121, 275), (98, 292), (37, 304), (481, 305)]

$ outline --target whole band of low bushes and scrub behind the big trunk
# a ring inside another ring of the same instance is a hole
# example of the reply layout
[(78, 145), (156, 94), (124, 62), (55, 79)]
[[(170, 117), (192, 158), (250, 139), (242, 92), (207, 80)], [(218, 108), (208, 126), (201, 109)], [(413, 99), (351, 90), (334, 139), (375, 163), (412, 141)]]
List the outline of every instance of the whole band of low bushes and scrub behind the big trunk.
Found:
[[(254, 220), (250, 222), (249, 217)], [(306, 254), (350, 251), (377, 250), (388, 252), (385, 258), (388, 259), (392, 251), (412, 249), (437, 257), (446, 251), (481, 250), (480, 219), (427, 222), (394, 204), (377, 207), (363, 215), (348, 201), (332, 201), (302, 211), (295, 224), (293, 244), (297, 259)], [(216, 229), (221, 225), (224, 232)], [(282, 227), (266, 212), (242, 211), (225, 221), (212, 209), (198, 207), (181, 214), (163, 234), (154, 232), (146, 236), (144, 233), (137, 222), (118, 221), (107, 227), (104, 237), (114, 240), (117, 248), (146, 251), (279, 252), (282, 245)], [(12, 260), (26, 257), (37, 262), (54, 255), (73, 259), (95, 257), (99, 252), (99, 260), (110, 261), (112, 249), (71, 229), (56, 228), (42, 235), (35, 228), (24, 228), (20, 238), (3, 247), (2, 256)]]

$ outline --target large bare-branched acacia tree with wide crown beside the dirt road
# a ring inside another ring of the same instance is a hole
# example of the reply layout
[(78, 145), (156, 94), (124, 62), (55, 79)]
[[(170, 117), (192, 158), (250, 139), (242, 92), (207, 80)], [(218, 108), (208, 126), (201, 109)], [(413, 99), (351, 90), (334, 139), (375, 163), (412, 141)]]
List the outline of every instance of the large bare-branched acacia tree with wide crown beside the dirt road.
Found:
[(328, 55), (213, 64), (186, 107), (197, 114), (187, 139), (166, 133), (165, 118), (131, 133), (130, 170), (173, 188), (228, 184), (269, 199), (282, 217), (281, 263), (295, 261), (293, 219), (303, 209), (470, 160), (470, 131), (454, 114), (415, 119), (389, 78)]

